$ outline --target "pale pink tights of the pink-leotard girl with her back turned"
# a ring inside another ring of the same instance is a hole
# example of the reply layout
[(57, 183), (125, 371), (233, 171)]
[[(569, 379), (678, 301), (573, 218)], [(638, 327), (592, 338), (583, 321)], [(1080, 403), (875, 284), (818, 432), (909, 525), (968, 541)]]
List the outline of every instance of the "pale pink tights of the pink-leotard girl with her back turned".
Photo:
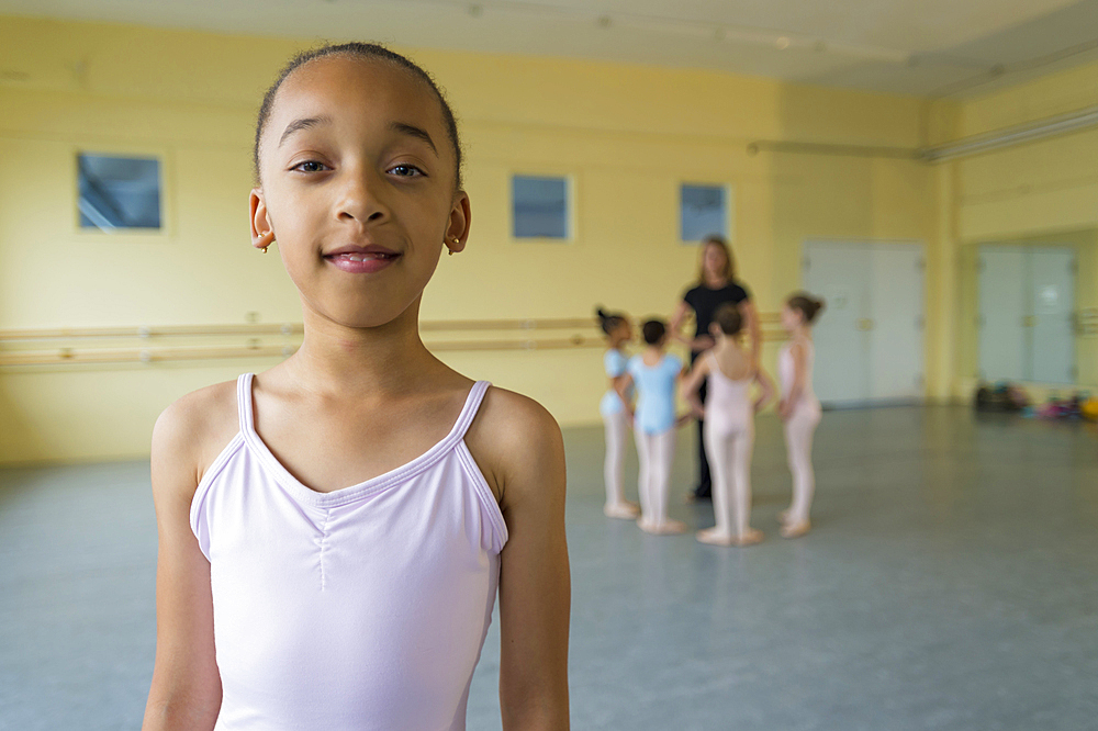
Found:
[(754, 428), (735, 431), (714, 428), (705, 421), (705, 451), (713, 472), (713, 514), (717, 533), (742, 538), (751, 522), (751, 450)]

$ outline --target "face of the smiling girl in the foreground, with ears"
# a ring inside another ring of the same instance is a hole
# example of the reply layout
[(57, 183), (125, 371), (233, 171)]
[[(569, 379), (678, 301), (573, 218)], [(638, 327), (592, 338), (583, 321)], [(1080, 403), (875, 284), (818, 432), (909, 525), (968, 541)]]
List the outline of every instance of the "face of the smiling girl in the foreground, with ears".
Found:
[[(330, 56), (283, 81), (260, 140), (253, 243), (278, 240), (302, 305), (377, 327), (417, 304), (469, 199), (430, 90), (385, 61)], [(457, 239), (457, 240), (455, 240)]]

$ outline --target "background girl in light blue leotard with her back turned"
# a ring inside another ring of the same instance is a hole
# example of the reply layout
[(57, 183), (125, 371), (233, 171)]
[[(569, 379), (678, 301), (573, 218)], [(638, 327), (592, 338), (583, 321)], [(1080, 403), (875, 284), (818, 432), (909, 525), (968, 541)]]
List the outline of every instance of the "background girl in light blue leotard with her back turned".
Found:
[[(645, 323), (641, 334), (647, 347), (629, 359), (626, 374), (615, 387), (634, 423), (637, 457), (640, 458), (640, 525), (649, 533), (681, 533), (686, 525), (668, 518), (668, 483), (675, 458), (675, 428), (690, 415), (675, 418), (675, 386), (683, 374), (683, 362), (664, 352), (666, 326), (662, 320)], [(629, 389), (637, 386), (637, 408), (632, 408)]]

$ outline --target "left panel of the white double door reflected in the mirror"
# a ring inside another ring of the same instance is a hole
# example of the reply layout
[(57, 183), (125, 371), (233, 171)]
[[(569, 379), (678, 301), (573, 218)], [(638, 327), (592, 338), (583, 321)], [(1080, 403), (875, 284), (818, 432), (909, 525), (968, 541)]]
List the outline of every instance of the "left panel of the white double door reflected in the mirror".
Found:
[(986, 381), (1028, 378), (1026, 256), (1017, 246), (979, 247), (979, 374)]

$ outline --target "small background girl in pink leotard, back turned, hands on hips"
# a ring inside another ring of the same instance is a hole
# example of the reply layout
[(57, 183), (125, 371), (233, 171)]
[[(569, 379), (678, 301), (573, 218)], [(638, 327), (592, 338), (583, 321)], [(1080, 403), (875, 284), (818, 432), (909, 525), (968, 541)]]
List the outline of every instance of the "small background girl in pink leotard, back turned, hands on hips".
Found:
[[(735, 305), (724, 304), (714, 313), (709, 334), (716, 345), (699, 358), (683, 383), (683, 396), (698, 418), (705, 419), (705, 451), (713, 468), (713, 513), (716, 526), (697, 533), (697, 540), (715, 546), (751, 546), (762, 531), (751, 527), (751, 450), (754, 415), (774, 395), (774, 385), (739, 342), (743, 318)], [(707, 384), (708, 400), (702, 405), (698, 390)], [(751, 401), (751, 386), (761, 394)]]

